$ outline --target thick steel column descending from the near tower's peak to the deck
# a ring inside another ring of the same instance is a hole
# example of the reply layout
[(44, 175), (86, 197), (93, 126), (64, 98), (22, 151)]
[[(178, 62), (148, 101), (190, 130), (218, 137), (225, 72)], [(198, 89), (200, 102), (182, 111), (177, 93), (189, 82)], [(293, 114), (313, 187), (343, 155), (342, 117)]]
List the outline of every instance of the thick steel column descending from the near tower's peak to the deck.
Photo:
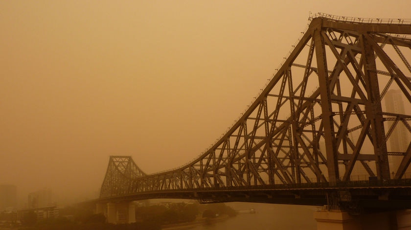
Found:
[(333, 122), (333, 112), (331, 105), (330, 83), (328, 79), (327, 58), (325, 55), (325, 43), (321, 34), (321, 26), (314, 30), (314, 44), (316, 49), (322, 123), (324, 124), (325, 151), (328, 161), (328, 177), (330, 183), (340, 180), (338, 171), (337, 150), (335, 144), (335, 132)]

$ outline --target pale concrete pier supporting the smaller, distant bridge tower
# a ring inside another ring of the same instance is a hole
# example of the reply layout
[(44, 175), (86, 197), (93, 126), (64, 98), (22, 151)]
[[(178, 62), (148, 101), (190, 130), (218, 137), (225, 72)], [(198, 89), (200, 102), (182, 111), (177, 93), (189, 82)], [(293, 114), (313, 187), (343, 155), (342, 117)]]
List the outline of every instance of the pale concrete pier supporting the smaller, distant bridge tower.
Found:
[(103, 213), (111, 224), (127, 224), (136, 222), (134, 202), (97, 203), (96, 213)]

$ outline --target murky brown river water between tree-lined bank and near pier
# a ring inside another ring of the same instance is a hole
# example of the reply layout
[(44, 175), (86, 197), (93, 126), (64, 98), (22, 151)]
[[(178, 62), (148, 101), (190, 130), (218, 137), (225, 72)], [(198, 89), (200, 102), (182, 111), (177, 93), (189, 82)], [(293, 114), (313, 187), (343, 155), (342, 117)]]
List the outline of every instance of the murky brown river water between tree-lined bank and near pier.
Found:
[(315, 206), (259, 203), (228, 203), (235, 210), (255, 209), (222, 222), (198, 226), (192, 230), (316, 230)]

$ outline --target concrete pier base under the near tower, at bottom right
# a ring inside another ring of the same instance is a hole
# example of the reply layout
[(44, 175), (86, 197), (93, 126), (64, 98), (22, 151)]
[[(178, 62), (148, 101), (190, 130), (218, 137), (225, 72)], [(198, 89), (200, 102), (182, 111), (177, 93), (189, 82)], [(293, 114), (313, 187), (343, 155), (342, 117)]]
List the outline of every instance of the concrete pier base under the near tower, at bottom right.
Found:
[(341, 210), (320, 210), (314, 213), (317, 230), (409, 230), (411, 210), (350, 215)]

